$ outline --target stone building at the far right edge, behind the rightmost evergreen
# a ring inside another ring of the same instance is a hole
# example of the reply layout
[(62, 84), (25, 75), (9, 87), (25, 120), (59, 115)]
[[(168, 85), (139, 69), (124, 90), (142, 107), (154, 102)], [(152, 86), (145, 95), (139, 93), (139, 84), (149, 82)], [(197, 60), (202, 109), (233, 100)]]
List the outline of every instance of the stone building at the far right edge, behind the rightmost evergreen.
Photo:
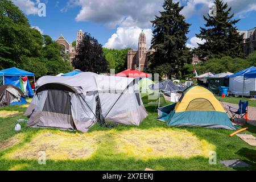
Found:
[(242, 49), (244, 57), (256, 51), (256, 27), (250, 30), (238, 30), (243, 35)]

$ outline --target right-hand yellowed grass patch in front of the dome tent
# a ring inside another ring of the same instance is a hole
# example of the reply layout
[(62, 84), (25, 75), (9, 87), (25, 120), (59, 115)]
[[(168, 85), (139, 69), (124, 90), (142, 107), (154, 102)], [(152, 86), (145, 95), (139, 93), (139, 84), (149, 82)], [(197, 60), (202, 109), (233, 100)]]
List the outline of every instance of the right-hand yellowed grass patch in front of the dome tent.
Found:
[(186, 130), (132, 129), (116, 135), (117, 151), (137, 159), (209, 156), (214, 146)]

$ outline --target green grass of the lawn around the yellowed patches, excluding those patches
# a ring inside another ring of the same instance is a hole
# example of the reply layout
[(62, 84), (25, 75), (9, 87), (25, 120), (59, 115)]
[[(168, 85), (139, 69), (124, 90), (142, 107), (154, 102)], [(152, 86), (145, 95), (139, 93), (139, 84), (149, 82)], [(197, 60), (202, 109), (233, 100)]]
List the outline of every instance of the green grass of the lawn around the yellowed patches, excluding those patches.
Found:
[[(144, 170), (145, 168), (152, 168), (156, 170), (231, 170), (230, 168), (222, 166), (220, 163), (217, 163), (217, 165), (210, 165), (208, 162), (209, 159), (203, 156), (195, 156), (188, 159), (179, 157), (167, 158), (163, 156), (163, 158), (142, 160), (133, 158), (133, 156), (114, 155), (113, 146), (115, 145), (115, 142), (112, 140), (113, 135), (108, 134), (109, 131), (118, 133), (122, 131), (129, 131), (134, 128), (138, 130), (166, 128), (165, 123), (156, 121), (155, 119), (157, 117), (156, 106), (146, 105), (146, 109), (148, 111), (148, 117), (144, 119), (144, 121), (138, 127), (118, 125), (115, 129), (108, 129), (101, 127), (98, 124), (94, 125), (89, 130), (89, 133), (103, 132), (106, 133), (106, 135), (103, 139), (104, 142), (99, 145), (91, 158), (86, 160), (47, 160), (46, 165), (39, 165), (37, 160), (14, 160), (5, 158), (4, 156), (6, 154), (10, 154), (10, 152), (18, 150), (20, 147), (24, 146), (24, 144), (31, 142), (31, 139), (40, 132), (56, 131), (71, 135), (81, 133), (59, 131), (54, 129), (32, 129), (30, 127), (26, 127), (24, 123), (22, 123), (22, 131), (20, 131), (20, 134), (24, 134), (25, 138), (22, 139), (22, 141), (20, 141), (18, 144), (0, 151), (0, 170)], [(1, 107), (0, 111), (2, 110), (18, 110), (24, 112), (25, 108), (20, 106), (6, 106)], [(22, 114), (17, 114), (9, 118), (0, 118), (0, 147), (1, 142), (4, 142), (5, 140), (17, 135), (17, 133), (14, 131), (14, 126), (16, 124), (16, 119), (19, 118), (24, 118), (24, 116)], [(245, 131), (244, 133), (253, 134), (256, 136), (256, 127), (251, 125), (246, 127), (249, 127), (249, 130)], [(255, 147), (249, 146), (249, 144), (243, 142), (237, 136), (229, 137), (229, 134), (232, 133), (232, 131), (190, 127), (171, 127), (168, 128), (168, 130), (185, 130), (193, 133), (193, 135), (195, 135), (197, 138), (206, 140), (208, 143), (213, 144), (216, 147), (218, 161), (242, 159), (251, 164), (251, 167), (246, 169), (256, 169)], [(186, 150), (186, 148), (184, 148), (184, 150)]]

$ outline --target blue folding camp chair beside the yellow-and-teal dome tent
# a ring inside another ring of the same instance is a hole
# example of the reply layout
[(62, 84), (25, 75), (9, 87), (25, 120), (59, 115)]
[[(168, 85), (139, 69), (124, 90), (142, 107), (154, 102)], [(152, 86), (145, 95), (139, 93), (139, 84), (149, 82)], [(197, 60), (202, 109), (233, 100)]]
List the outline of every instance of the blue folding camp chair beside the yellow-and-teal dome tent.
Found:
[(245, 115), (248, 112), (248, 101), (239, 101), (239, 108), (235, 108), (232, 106), (228, 106), (229, 107), (229, 111), (232, 114), (232, 117), (230, 119), (233, 118), (243, 118), (245, 117)]

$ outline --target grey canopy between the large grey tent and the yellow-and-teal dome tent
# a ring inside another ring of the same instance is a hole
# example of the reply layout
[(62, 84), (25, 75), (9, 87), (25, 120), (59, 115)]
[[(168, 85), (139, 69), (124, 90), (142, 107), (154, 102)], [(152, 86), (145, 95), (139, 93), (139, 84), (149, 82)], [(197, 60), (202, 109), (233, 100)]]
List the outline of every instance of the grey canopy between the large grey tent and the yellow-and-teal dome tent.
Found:
[(159, 82), (158, 84), (150, 85), (152, 90), (162, 90), (167, 96), (171, 96), (171, 92), (183, 91), (186, 89), (184, 86), (177, 86), (171, 80)]

